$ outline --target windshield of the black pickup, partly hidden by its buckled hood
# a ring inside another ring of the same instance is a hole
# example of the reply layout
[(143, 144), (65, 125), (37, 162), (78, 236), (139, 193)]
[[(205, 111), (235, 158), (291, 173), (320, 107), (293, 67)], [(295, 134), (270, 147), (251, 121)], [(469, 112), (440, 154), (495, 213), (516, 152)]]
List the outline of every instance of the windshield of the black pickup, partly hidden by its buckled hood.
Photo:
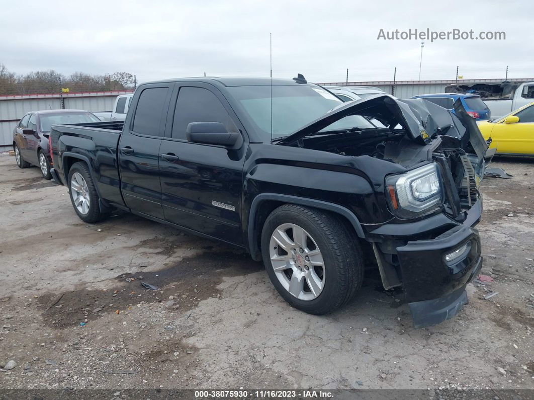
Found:
[[(228, 90), (243, 106), (265, 141), (271, 140), (271, 87), (235, 86)], [(293, 134), (343, 101), (312, 86), (272, 86), (272, 139)], [(375, 128), (361, 115), (349, 115), (321, 132), (349, 128)]]

